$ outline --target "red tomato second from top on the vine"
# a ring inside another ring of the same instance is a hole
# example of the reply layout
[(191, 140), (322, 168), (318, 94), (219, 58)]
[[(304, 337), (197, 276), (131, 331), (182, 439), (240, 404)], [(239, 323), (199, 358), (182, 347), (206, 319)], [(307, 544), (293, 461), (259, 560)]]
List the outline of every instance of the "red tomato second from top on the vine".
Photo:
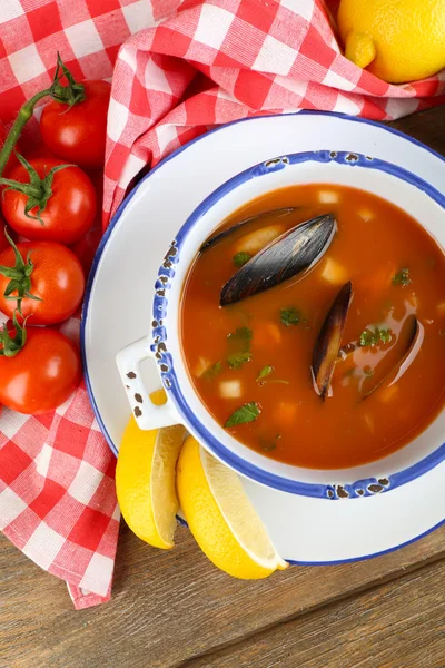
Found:
[[(55, 158), (30, 160), (40, 178), (44, 178), (52, 167), (63, 165)], [(11, 180), (29, 184), (30, 177), (22, 165), (9, 175)], [(96, 215), (96, 193), (90, 178), (79, 167), (66, 167), (53, 175), (49, 197), (41, 213), (43, 225), (24, 214), (27, 195), (17, 190), (3, 190), (2, 212), (12, 229), (27, 239), (60, 242), (70, 246), (78, 242), (91, 227)], [(37, 206), (29, 213), (37, 216)]]

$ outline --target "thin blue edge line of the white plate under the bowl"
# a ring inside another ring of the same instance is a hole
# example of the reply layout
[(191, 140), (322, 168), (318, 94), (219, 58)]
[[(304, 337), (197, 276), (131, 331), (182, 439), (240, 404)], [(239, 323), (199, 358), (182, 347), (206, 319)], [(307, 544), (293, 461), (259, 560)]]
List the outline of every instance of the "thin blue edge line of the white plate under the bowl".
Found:
[[(88, 275), (86, 292), (85, 292), (85, 299), (83, 299), (81, 322), (80, 322), (80, 351), (81, 351), (81, 357), (82, 357), (82, 364), (83, 364), (85, 383), (86, 383), (87, 393), (88, 393), (88, 396), (89, 396), (89, 400), (90, 400), (90, 403), (92, 406), (92, 411), (93, 411), (96, 420), (99, 424), (100, 431), (102, 432), (111, 452), (116, 456), (118, 454), (118, 448), (116, 446), (113, 440), (111, 439), (110, 434), (108, 433), (107, 426), (103, 422), (103, 419), (102, 419), (99, 407), (97, 405), (96, 397), (95, 397), (92, 386), (91, 386), (91, 379), (88, 373), (88, 361), (87, 361), (87, 351), (86, 351), (86, 328), (87, 328), (88, 311), (89, 311), (89, 305), (90, 305), (90, 299), (91, 299), (92, 286), (95, 284), (95, 278), (96, 278), (97, 271), (99, 268), (100, 261), (101, 261), (103, 252), (112, 236), (113, 229), (117, 226), (117, 224), (119, 223), (120, 217), (122, 216), (125, 209), (127, 208), (127, 206), (129, 205), (131, 199), (135, 197), (135, 195), (138, 193), (139, 188), (149, 178), (151, 178), (151, 176), (158, 169), (160, 169), (164, 165), (166, 165), (167, 163), (169, 163), (170, 160), (176, 158), (184, 150), (186, 150), (194, 144), (201, 141), (209, 135), (220, 132), (221, 130), (224, 130), (227, 127), (239, 125), (243, 122), (261, 120), (265, 118), (274, 118), (274, 117), (276, 118), (277, 116), (278, 117), (280, 117), (280, 116), (284, 116), (284, 117), (327, 116), (327, 117), (337, 118), (338, 120), (343, 120), (346, 122), (357, 122), (357, 124), (362, 124), (362, 125), (368, 125), (372, 127), (376, 127), (379, 130), (383, 130), (385, 132), (388, 132), (389, 135), (395, 135), (396, 137), (400, 137), (402, 139), (404, 139), (405, 141), (408, 141), (409, 144), (414, 144), (415, 146), (422, 148), (423, 150), (427, 151), (428, 154), (431, 154), (432, 156), (434, 156), (435, 158), (437, 158), (438, 160), (441, 160), (442, 163), (445, 164), (445, 157), (442, 156), (439, 153), (437, 153), (429, 146), (426, 146), (426, 144), (423, 144), (418, 139), (415, 139), (414, 137), (411, 137), (409, 135), (406, 135), (405, 132), (400, 132), (399, 130), (396, 130), (395, 128), (384, 126), (380, 122), (377, 122), (375, 120), (369, 120), (367, 118), (357, 118), (355, 116), (348, 116), (347, 114), (339, 114), (339, 112), (335, 112), (335, 111), (313, 111), (313, 110), (300, 110), (300, 111), (294, 111), (294, 112), (289, 112), (289, 114), (280, 114), (280, 115), (267, 114), (267, 115), (263, 115), (263, 116), (255, 116), (255, 117), (241, 118), (239, 120), (234, 120), (233, 122), (225, 124), (220, 127), (217, 127), (212, 130), (205, 132), (204, 135), (200, 135), (196, 139), (192, 139), (191, 141), (187, 143), (186, 145), (181, 146), (180, 148), (172, 151), (169, 156), (164, 158), (164, 160), (161, 160), (156, 167), (154, 167), (154, 169), (151, 169), (144, 178), (141, 178), (141, 180), (135, 186), (135, 188), (125, 197), (122, 203), (119, 205), (116, 214), (111, 218), (106, 232), (103, 233), (103, 236), (102, 236), (100, 244), (98, 246), (98, 249), (96, 252), (96, 255), (95, 255), (95, 258), (93, 258), (93, 262), (92, 262), (89, 275)], [(419, 533), (418, 536), (413, 537), (412, 539), (409, 539), (405, 542), (402, 542), (397, 546), (387, 548), (386, 550), (380, 550), (378, 552), (374, 552), (372, 554), (363, 554), (359, 557), (352, 557), (348, 559), (339, 559), (339, 560), (330, 560), (330, 561), (328, 561), (328, 560), (327, 561), (297, 561), (297, 560), (293, 560), (293, 559), (288, 559), (287, 561), (289, 563), (299, 564), (299, 566), (335, 566), (335, 564), (340, 564), (340, 563), (354, 563), (355, 561), (365, 561), (367, 559), (373, 559), (375, 557), (388, 554), (389, 552), (395, 552), (396, 550), (399, 550), (400, 548), (409, 546), (411, 543), (416, 542), (417, 540), (421, 540), (422, 538), (428, 536), (429, 533), (433, 533), (433, 531), (436, 531), (436, 529), (439, 529), (443, 525), (445, 525), (445, 518), (441, 522), (434, 524), (433, 527), (431, 527), (426, 531)]]

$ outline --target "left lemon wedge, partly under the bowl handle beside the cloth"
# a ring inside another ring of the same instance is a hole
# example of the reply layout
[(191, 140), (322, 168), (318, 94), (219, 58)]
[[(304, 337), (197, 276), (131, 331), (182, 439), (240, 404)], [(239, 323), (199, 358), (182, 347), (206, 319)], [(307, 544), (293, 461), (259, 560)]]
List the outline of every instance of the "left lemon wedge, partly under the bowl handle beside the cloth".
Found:
[[(151, 396), (165, 403), (164, 392)], [(181, 425), (142, 431), (131, 416), (123, 432), (116, 468), (120, 510), (129, 528), (150, 546), (174, 547), (178, 498), (176, 463), (182, 446)]]

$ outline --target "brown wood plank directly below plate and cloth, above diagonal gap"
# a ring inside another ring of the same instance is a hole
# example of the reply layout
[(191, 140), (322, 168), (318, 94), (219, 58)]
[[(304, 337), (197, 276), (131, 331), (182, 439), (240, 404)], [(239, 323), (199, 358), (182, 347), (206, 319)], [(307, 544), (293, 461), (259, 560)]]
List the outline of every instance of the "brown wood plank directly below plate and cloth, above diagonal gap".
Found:
[(76, 612), (63, 582), (2, 539), (0, 666), (147, 668), (149, 656), (168, 668), (443, 557), (445, 528), (370, 561), (246, 582), (217, 571), (186, 529), (164, 552), (123, 528), (111, 602)]

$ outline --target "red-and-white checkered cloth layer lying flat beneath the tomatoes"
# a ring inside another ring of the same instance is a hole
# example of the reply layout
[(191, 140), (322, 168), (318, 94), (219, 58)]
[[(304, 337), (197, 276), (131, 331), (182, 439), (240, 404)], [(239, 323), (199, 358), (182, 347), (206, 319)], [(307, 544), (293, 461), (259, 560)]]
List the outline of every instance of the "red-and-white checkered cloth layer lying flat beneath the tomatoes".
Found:
[[(79, 79), (111, 77), (120, 45), (156, 11), (146, 0), (0, 2), (1, 120), (48, 88), (57, 51)], [(63, 331), (78, 338), (79, 318)], [(85, 385), (52, 414), (1, 412), (0, 529), (67, 581), (77, 608), (110, 597), (119, 530), (115, 463)]]

